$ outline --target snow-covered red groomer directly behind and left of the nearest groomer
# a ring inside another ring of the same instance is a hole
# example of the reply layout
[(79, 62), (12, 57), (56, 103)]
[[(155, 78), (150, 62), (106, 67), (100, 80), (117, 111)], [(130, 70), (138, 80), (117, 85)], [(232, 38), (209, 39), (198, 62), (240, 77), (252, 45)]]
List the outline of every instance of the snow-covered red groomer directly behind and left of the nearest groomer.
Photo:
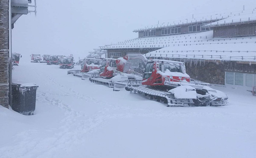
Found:
[[(104, 59), (100, 73), (94, 73), (90, 77), (91, 82), (100, 82), (113, 87), (114, 91), (119, 91), (126, 87), (137, 87), (142, 82), (143, 65), (147, 59), (141, 54), (125, 55), (118, 59)], [(144, 66), (145, 67), (145, 66)]]

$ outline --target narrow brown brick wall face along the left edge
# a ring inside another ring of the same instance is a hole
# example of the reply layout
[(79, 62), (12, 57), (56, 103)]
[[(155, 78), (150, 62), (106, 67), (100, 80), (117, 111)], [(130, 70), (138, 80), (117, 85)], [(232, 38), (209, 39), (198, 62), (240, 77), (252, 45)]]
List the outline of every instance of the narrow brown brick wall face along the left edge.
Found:
[(9, 0), (0, 0), (0, 105), (9, 105)]

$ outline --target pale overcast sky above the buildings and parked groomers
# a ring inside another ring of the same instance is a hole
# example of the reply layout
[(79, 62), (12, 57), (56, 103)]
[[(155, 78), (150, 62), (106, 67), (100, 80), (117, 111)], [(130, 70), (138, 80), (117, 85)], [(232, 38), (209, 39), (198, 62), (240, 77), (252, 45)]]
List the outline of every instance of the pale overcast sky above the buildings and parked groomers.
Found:
[(105, 44), (137, 38), (134, 29), (256, 8), (255, 0), (37, 0), (37, 17), (22, 15), (12, 30), (12, 49), (85, 58)]

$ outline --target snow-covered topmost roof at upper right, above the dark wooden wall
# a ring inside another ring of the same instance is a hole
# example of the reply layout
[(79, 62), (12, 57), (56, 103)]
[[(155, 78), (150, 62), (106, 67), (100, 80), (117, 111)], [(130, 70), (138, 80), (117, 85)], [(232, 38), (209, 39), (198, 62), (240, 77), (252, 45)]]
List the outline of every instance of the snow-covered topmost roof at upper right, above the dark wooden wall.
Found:
[(237, 23), (248, 23), (248, 22), (256, 22), (256, 11), (250, 11), (250, 12), (245, 11), (239, 14), (234, 14), (225, 19), (222, 19), (210, 24), (206, 24), (204, 27), (217, 27), (217, 26), (223, 26), (223, 25), (232, 25)]

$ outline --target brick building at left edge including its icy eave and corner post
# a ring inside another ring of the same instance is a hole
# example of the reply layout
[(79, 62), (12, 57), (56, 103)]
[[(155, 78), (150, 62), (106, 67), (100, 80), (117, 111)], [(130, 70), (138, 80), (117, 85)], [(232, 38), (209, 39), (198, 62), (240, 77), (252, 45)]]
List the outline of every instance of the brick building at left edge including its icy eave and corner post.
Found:
[[(12, 56), (11, 29), (21, 15), (36, 12), (31, 0), (0, 0), (0, 105), (11, 105)], [(11, 6), (11, 8), (9, 8)], [(29, 8), (34, 10), (29, 10)]]

